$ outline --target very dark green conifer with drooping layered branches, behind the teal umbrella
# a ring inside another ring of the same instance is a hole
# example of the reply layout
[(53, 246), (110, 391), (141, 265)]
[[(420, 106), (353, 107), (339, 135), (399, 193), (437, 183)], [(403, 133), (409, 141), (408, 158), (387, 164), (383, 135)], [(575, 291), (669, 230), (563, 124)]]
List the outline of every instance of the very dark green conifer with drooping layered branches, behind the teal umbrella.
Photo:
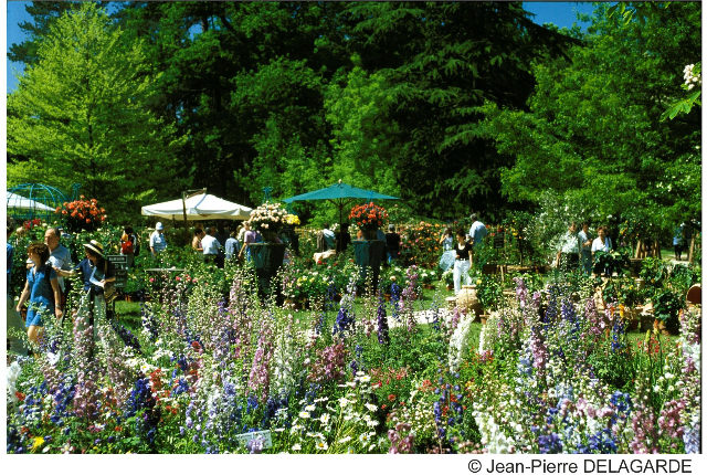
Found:
[(534, 24), (515, 2), (361, 2), (345, 14), (361, 67), (389, 85), (392, 106), (368, 124), (401, 130), (380, 166), (393, 170), (402, 197), (421, 214), (497, 218), (498, 169), (513, 158), (479, 136), (479, 107), (521, 107), (531, 61), (573, 40)]

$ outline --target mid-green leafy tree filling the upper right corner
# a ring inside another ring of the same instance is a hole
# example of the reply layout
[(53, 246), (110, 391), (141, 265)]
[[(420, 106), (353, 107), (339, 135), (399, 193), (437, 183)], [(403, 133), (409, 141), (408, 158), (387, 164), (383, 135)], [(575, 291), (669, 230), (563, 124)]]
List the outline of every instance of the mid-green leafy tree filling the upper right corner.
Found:
[(551, 190), (600, 222), (669, 229), (701, 207), (699, 110), (661, 120), (699, 59), (700, 6), (616, 11), (599, 4), (584, 45), (535, 66), (529, 110), (489, 104), (483, 134), (515, 158), (502, 175), (508, 200), (537, 203)]

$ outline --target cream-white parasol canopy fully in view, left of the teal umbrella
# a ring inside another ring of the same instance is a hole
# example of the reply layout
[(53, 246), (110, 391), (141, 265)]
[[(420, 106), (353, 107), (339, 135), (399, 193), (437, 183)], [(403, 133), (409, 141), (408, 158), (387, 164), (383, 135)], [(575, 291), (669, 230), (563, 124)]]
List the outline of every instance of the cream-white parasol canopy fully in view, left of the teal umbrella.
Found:
[(143, 207), (145, 217), (157, 217), (167, 220), (183, 220), (184, 207), (188, 221), (204, 220), (247, 220), (251, 217), (251, 208), (232, 203), (222, 198), (208, 193), (199, 193), (163, 203)]

